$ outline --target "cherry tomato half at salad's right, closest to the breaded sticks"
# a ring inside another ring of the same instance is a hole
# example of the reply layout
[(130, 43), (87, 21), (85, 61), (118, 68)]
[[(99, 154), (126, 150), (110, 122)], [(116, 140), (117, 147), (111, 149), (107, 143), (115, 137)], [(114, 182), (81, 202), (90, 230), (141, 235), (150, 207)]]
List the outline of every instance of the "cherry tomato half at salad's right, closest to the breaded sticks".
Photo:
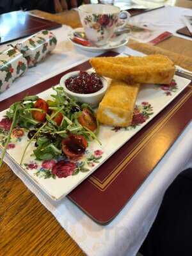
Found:
[(95, 116), (93, 116), (92, 112), (84, 108), (81, 116), (78, 118), (79, 124), (90, 129), (91, 131), (95, 131), (97, 129), (97, 121)]

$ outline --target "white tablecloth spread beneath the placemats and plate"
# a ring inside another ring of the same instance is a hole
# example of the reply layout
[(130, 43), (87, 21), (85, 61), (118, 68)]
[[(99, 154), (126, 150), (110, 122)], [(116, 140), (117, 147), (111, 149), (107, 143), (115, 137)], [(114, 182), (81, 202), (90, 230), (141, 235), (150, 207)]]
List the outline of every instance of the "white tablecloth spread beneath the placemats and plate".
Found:
[[(177, 9), (177, 8), (176, 8)], [(175, 10), (176, 10), (175, 9)], [(163, 10), (160, 9), (159, 12)], [(164, 9), (168, 10), (168, 9)], [(173, 9), (170, 9), (171, 13)], [(177, 10), (176, 10), (177, 11)], [(157, 11), (156, 15), (158, 14)], [(180, 12), (180, 11), (179, 11)], [(164, 13), (164, 12), (163, 12)], [(163, 17), (162, 13), (162, 17)], [(170, 20), (172, 15), (170, 13)], [(146, 13), (149, 17), (153, 15), (153, 12)], [(156, 16), (154, 15), (154, 16)], [(157, 17), (159, 17), (157, 15)], [(161, 17), (161, 20), (162, 20)], [(132, 19), (140, 19), (140, 16), (133, 17)], [(158, 18), (160, 19), (160, 18)], [(147, 20), (147, 18), (146, 18)], [(146, 22), (145, 20), (145, 22)], [(149, 18), (148, 18), (149, 20)], [(149, 21), (148, 21), (149, 22)], [(152, 20), (150, 21), (152, 22)], [(154, 21), (155, 22), (155, 21)], [(160, 21), (159, 21), (160, 22)], [(165, 19), (163, 19), (164, 24)], [(156, 20), (157, 23), (157, 20)], [(162, 26), (164, 26), (164, 24)], [(168, 24), (167, 24), (168, 26)], [(180, 26), (182, 27), (182, 26)], [(166, 30), (177, 29), (174, 22), (170, 22), (170, 27)], [(76, 65), (77, 61), (82, 62), (87, 60), (93, 54), (76, 51), (72, 45), (65, 41), (64, 33), (69, 29), (67, 27), (55, 30), (58, 36), (63, 33), (63, 41), (59, 40), (58, 47), (55, 51), (62, 54), (62, 58), (59, 54), (52, 55), (50, 61), (41, 63), (37, 67), (31, 68), (30, 74), (26, 74), (28, 79), (22, 77), (18, 80), (17, 86), (20, 86), (22, 90), (26, 88), (26, 84), (29, 86), (29, 80), (32, 79), (32, 74), (40, 72), (33, 83), (38, 83), (40, 80), (45, 79), (46, 76), (52, 76), (51, 68), (54, 65), (58, 65), (60, 72), (68, 68), (68, 65)], [(138, 54), (138, 52), (132, 51), (127, 48), (127, 53)], [(56, 60), (59, 60), (58, 62)], [(40, 68), (41, 67), (41, 68)], [(44, 72), (44, 70), (46, 72)], [(47, 75), (47, 70), (49, 74)], [(54, 72), (58, 72), (54, 70)], [(16, 82), (15, 82), (16, 84)], [(17, 88), (19, 92), (20, 88)], [(15, 88), (16, 90), (16, 88)], [(13, 92), (11, 92), (12, 94)], [(6, 94), (9, 97), (10, 94)], [(2, 98), (0, 98), (2, 100)], [(107, 226), (100, 226), (94, 223), (88, 218), (82, 211), (80, 211), (76, 205), (72, 204), (67, 198), (64, 198), (60, 202), (53, 202), (47, 198), (40, 189), (36, 188), (36, 185), (29, 180), (24, 173), (17, 170), (17, 167), (6, 159), (6, 163), (10, 165), (13, 172), (22, 179), (26, 186), (37, 196), (37, 198), (45, 205), (45, 207), (52, 212), (56, 220), (58, 220), (68, 234), (79, 244), (79, 246), (88, 255), (93, 256), (134, 256), (141, 243), (147, 236), (147, 232), (150, 229), (154, 219), (156, 218), (159, 205), (164, 195), (164, 191), (168, 188), (170, 183), (175, 177), (187, 166), (192, 166), (190, 162), (192, 160), (192, 124), (182, 132), (179, 139), (175, 141), (174, 145), (163, 159), (157, 164), (154, 171), (149, 175), (147, 180), (143, 183), (137, 193), (132, 196), (131, 200), (125, 205), (124, 209), (118, 214), (118, 216)], [(91, 195), (90, 195), (91, 196)]]

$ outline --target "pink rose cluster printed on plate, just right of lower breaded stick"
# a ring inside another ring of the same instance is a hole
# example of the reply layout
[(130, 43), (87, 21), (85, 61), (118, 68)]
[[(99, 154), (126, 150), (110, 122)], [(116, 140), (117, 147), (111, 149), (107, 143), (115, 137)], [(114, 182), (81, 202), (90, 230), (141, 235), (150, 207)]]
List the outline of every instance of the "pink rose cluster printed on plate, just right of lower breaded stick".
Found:
[(153, 108), (148, 102), (142, 102), (140, 106), (136, 105), (132, 117), (132, 123), (128, 127), (114, 127), (112, 131), (118, 132), (122, 129), (130, 130), (135, 129), (138, 125), (143, 124), (153, 114)]

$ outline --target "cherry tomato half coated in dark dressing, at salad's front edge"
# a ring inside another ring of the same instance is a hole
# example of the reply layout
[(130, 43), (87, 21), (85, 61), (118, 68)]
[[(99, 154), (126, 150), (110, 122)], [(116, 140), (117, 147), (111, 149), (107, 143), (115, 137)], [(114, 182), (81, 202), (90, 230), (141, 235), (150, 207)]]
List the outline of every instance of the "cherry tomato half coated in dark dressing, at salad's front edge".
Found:
[(86, 148), (88, 142), (83, 135), (70, 134), (67, 138), (61, 141), (63, 153), (72, 160), (80, 159)]

